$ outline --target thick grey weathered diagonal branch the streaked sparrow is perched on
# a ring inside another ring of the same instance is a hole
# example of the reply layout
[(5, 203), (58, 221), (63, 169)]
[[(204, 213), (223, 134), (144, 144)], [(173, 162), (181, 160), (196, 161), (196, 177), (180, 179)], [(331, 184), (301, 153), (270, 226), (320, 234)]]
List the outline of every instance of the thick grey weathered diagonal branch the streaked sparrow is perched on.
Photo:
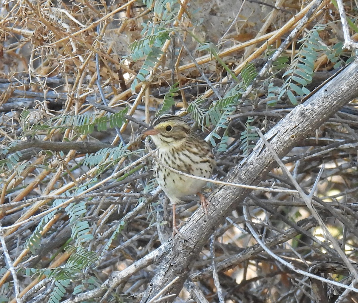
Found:
[[(358, 61), (355, 60), (334, 79), (325, 84), (304, 104), (296, 106), (272, 128), (266, 138), (277, 155), (284, 157), (301, 140), (314, 133), (335, 112), (358, 97)], [(226, 181), (257, 185), (276, 165), (274, 157), (260, 140), (251, 155), (229, 171)], [(141, 302), (148, 302), (173, 279), (179, 279), (163, 294), (178, 294), (188, 277), (195, 257), (200, 253), (212, 232), (232, 209), (243, 202), (251, 190), (219, 187), (209, 197), (211, 206), (205, 216), (199, 208), (173, 239), (173, 246), (159, 263)], [(189, 241), (185, 240), (189, 239)], [(172, 302), (171, 297), (163, 302)]]

